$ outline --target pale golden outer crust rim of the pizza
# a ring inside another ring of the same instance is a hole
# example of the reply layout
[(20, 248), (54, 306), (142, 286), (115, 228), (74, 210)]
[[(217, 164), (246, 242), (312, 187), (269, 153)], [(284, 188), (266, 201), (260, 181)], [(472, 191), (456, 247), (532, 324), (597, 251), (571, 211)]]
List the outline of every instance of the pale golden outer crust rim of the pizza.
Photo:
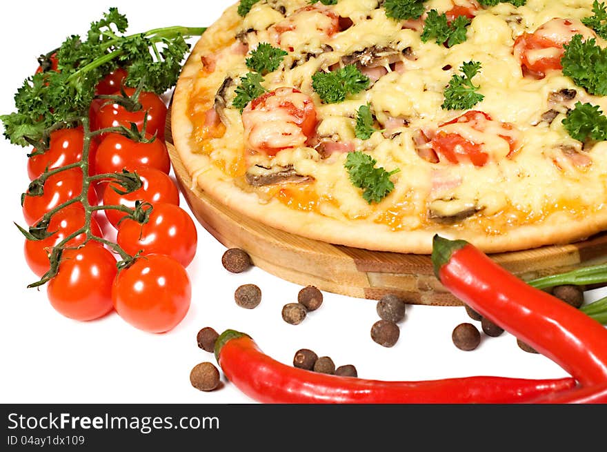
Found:
[(336, 219), (315, 211), (288, 208), (276, 199), (262, 200), (255, 192), (247, 192), (212, 164), (206, 155), (196, 153), (192, 146), (193, 125), (189, 102), (200, 77), (201, 57), (233, 42), (240, 18), (237, 5), (223, 13), (192, 49), (175, 88), (172, 100), (172, 138), (179, 159), (192, 181), (206, 194), (228, 208), (257, 222), (288, 233), (332, 244), (396, 253), (429, 254), (435, 234), (452, 239), (466, 239), (487, 253), (566, 244), (586, 239), (607, 228), (607, 209), (595, 209), (580, 218), (561, 210), (537, 224), (510, 228), (507, 233), (489, 235), (468, 230), (464, 226), (443, 226), (423, 230), (392, 230), (384, 224)]

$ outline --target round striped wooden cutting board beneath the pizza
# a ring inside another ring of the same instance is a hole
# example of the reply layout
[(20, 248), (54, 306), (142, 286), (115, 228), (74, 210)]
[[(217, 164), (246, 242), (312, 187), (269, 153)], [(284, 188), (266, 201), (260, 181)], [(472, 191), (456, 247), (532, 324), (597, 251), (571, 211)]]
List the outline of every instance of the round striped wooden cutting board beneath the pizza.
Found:
[[(439, 283), (429, 255), (386, 253), (318, 242), (286, 233), (236, 213), (199, 188), (166, 137), (179, 186), (199, 222), (223, 245), (242, 248), (253, 264), (301, 286), (350, 297), (379, 299), (388, 293), (410, 304), (461, 306)], [(491, 255), (492, 259), (523, 279), (532, 279), (607, 262), (607, 233), (584, 242), (544, 246), (531, 250)]]

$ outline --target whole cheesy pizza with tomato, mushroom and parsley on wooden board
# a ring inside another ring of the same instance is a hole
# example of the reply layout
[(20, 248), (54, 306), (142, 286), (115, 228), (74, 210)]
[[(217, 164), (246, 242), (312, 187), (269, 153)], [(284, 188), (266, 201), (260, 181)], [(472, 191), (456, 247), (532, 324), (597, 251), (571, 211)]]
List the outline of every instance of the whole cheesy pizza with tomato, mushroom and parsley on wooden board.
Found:
[(212, 199), (323, 242), (575, 242), (607, 229), (606, 18), (590, 0), (242, 0), (183, 66), (175, 147)]

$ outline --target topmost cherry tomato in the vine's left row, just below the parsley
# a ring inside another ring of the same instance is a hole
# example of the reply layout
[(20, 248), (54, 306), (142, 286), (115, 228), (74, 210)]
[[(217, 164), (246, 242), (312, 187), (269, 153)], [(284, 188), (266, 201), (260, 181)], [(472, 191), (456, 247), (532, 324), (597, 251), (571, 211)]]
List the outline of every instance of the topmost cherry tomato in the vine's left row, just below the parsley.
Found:
[[(82, 147), (84, 132), (82, 128), (59, 129), (51, 132), (50, 146), (43, 153), (34, 155), (28, 159), (28, 176), (30, 180), (37, 179), (46, 169), (52, 170), (60, 166), (74, 164), (82, 159)], [(94, 164), (97, 143), (90, 142), (88, 157), (89, 162)], [(94, 168), (89, 164), (88, 173), (94, 174)]]

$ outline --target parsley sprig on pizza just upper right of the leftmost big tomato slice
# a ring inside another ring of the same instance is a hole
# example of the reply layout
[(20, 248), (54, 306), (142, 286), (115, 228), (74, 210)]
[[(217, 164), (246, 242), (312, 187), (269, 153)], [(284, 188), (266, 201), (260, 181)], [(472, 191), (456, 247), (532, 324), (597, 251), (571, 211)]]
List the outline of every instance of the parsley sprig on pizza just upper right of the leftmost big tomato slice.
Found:
[(369, 83), (369, 77), (353, 64), (332, 72), (317, 72), (312, 75), (312, 88), (325, 104), (343, 102), (348, 94), (366, 90)]

